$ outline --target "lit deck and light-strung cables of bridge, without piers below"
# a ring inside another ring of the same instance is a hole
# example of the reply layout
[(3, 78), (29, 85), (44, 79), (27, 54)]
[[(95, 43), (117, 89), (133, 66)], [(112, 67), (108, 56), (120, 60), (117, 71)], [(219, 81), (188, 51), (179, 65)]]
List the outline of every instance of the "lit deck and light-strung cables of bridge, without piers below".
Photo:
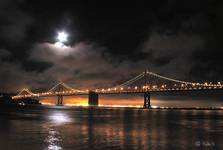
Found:
[[(142, 79), (146, 75), (153, 76), (159, 79), (163, 79), (166, 81), (174, 82), (172, 86), (168, 86), (167, 84), (144, 84), (142, 86), (131, 86), (136, 81)], [(63, 90), (56, 91), (56, 89), (61, 86)], [(66, 90), (64, 90), (66, 89)], [(115, 94), (115, 93), (144, 93), (144, 92), (165, 92), (165, 91), (187, 91), (187, 90), (213, 90), (213, 89), (223, 89), (223, 85), (221, 82), (217, 82), (213, 84), (213, 82), (187, 82), (182, 80), (176, 80), (173, 78), (165, 77), (153, 72), (142, 72), (134, 78), (111, 88), (98, 88), (93, 90), (78, 90), (74, 89), (67, 84), (60, 82), (53, 86), (49, 91), (42, 93), (33, 93), (29, 89), (22, 89), (16, 96), (13, 96), (13, 99), (20, 99), (26, 97), (44, 97), (44, 96), (56, 96), (56, 95), (87, 95), (90, 91), (97, 92), (99, 94)]]

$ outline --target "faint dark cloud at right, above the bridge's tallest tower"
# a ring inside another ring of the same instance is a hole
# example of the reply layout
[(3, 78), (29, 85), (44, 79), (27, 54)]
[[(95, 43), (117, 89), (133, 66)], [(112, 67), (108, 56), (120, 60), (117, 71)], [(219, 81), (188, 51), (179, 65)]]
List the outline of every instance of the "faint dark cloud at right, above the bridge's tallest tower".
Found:
[(196, 63), (192, 54), (202, 48), (203, 43), (204, 39), (199, 35), (153, 33), (143, 44), (141, 52), (148, 54), (152, 70), (185, 78)]

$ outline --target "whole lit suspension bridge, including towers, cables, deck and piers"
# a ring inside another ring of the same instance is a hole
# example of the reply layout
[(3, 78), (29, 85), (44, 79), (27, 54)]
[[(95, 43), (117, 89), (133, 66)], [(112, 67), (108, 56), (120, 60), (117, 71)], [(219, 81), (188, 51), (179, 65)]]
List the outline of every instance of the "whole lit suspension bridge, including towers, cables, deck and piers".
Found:
[(97, 106), (99, 104), (99, 95), (107, 94), (144, 94), (144, 108), (151, 108), (150, 94), (159, 92), (176, 91), (199, 91), (199, 90), (221, 90), (221, 82), (188, 82), (162, 76), (145, 70), (137, 76), (123, 82), (122, 84), (103, 87), (91, 90), (81, 90), (72, 88), (63, 82), (59, 82), (46, 92), (33, 93), (29, 89), (22, 89), (17, 95), (12, 96), (13, 100), (41, 97), (57, 97), (57, 105), (63, 105), (64, 96), (88, 96), (88, 105)]

